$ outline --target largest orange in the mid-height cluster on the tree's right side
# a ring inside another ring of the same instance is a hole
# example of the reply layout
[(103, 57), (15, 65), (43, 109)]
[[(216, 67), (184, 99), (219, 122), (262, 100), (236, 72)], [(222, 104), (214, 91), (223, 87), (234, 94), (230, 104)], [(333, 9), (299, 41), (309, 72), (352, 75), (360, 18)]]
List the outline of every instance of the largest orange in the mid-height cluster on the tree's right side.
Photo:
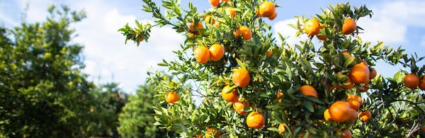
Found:
[(350, 71), (350, 79), (356, 84), (368, 84), (369, 75), (369, 68), (363, 63), (354, 65)]

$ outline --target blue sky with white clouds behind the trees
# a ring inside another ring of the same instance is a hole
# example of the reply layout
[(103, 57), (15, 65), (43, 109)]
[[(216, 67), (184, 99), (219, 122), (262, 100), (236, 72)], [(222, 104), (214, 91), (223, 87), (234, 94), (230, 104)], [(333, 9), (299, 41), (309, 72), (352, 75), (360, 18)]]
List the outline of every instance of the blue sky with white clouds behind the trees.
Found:
[[(159, 0), (154, 0), (159, 4)], [(202, 12), (211, 7), (208, 0), (191, 0)], [(276, 8), (278, 17), (268, 21), (275, 33), (289, 36), (288, 43), (295, 44), (295, 30), (288, 23), (295, 23), (294, 16), (311, 18), (329, 5), (342, 4), (348, 1), (290, 1), (276, 0), (280, 7)], [(406, 53), (416, 52), (425, 57), (425, 1), (421, 0), (356, 0), (349, 1), (353, 6), (368, 6), (373, 10), (372, 18), (362, 18), (358, 25), (365, 29), (361, 35), (363, 41), (373, 44), (384, 42), (390, 47), (406, 49)], [(187, 7), (188, 0), (181, 0)], [(178, 50), (183, 42), (183, 34), (175, 33), (170, 26), (153, 28), (149, 42), (142, 42), (137, 47), (129, 41), (124, 44), (124, 36), (118, 32), (125, 23), (134, 21), (149, 22), (154, 18), (142, 11), (141, 0), (0, 0), (0, 25), (13, 28), (27, 21), (28, 23), (44, 21), (47, 7), (51, 4), (67, 5), (72, 10), (84, 10), (87, 18), (72, 25), (78, 35), (73, 39), (84, 45), (84, 73), (96, 84), (118, 82), (120, 88), (127, 93), (135, 93), (137, 86), (145, 84), (146, 72), (158, 69), (157, 63), (162, 59), (174, 59), (173, 50)], [(26, 16), (23, 16), (28, 5)], [(424, 61), (418, 63), (419, 66)], [(392, 67), (378, 62), (375, 67), (384, 76), (392, 76), (402, 67)]]

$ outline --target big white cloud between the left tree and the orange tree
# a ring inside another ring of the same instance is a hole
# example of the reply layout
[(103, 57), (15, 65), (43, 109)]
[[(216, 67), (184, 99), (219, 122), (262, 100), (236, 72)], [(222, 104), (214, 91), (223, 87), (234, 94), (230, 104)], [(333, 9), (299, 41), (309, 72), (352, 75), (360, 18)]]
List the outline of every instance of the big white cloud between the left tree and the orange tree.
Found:
[[(172, 50), (179, 49), (183, 36), (169, 27), (152, 28), (149, 42), (141, 42), (137, 47), (131, 40), (124, 44), (125, 37), (118, 32), (125, 23), (135, 25), (135, 15), (123, 15), (116, 6), (105, 6), (102, 1), (89, 1), (90, 4), (76, 3), (84, 8), (87, 18), (74, 25), (79, 37), (74, 41), (85, 45), (86, 69), (92, 81), (106, 83), (115, 81), (120, 88), (134, 93), (137, 86), (145, 83), (146, 71), (156, 67), (163, 58), (171, 59)], [(152, 21), (140, 20), (141, 23)], [(99, 79), (100, 78), (100, 79)]]

